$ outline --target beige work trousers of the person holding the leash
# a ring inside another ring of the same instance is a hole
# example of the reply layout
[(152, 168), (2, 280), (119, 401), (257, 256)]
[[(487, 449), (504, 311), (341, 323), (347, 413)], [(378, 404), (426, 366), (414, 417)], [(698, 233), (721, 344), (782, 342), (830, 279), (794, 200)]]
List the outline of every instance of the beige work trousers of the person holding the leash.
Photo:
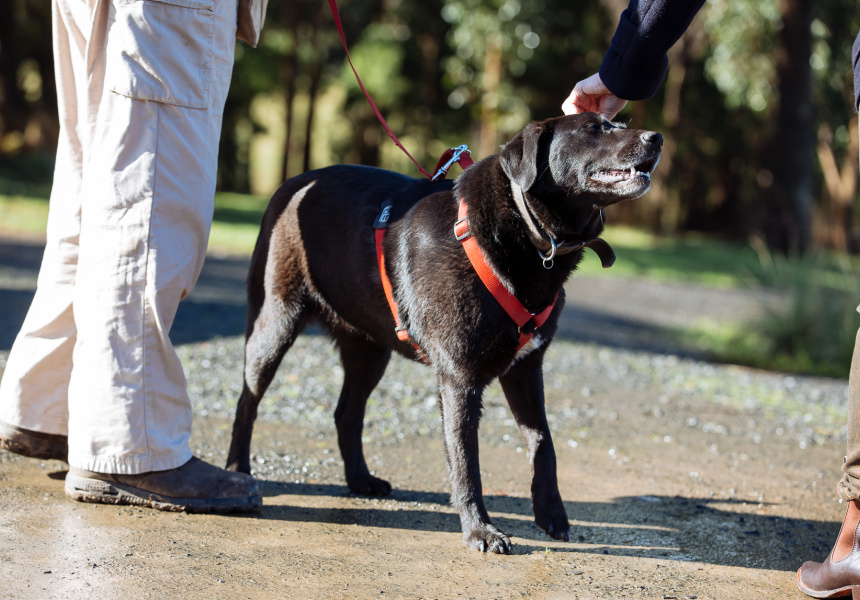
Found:
[(0, 420), (68, 434), (69, 464), (191, 458), (168, 333), (200, 273), (237, 0), (54, 0), (61, 133), (36, 295)]

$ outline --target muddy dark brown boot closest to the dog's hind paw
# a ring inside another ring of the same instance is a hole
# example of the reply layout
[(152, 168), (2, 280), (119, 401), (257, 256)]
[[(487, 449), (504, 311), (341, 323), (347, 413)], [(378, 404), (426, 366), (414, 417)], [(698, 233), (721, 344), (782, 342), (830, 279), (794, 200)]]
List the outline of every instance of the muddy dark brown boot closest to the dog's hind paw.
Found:
[(193, 513), (247, 512), (263, 504), (253, 477), (225, 471), (196, 457), (176, 469), (140, 475), (93, 473), (70, 467), (66, 495), (80, 502)]

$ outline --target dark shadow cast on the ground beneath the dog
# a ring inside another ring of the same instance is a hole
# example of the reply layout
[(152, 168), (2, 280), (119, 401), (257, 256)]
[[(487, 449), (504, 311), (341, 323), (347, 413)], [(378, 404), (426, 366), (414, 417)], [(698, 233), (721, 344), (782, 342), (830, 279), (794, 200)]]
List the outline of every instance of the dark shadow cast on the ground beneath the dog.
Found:
[[(261, 487), (268, 500), (260, 513), (245, 518), (460, 532), (457, 515), (444, 510), (450, 505), (444, 493), (394, 490), (381, 500), (387, 505), (383, 508), (332, 508), (273, 502), (291, 495), (352, 496), (346, 486), (262, 481)], [(484, 499), (493, 522), (514, 538), (516, 554), (546, 548), (549, 538), (532, 521), (530, 499), (491, 494)], [(392, 507), (397, 519), (391, 518)], [(798, 556), (826, 556), (838, 533), (839, 524), (832, 521), (760, 515), (754, 512), (756, 507), (739, 500), (682, 496), (565, 502), (573, 546), (556, 546), (553, 551), (791, 571), (798, 566)]]

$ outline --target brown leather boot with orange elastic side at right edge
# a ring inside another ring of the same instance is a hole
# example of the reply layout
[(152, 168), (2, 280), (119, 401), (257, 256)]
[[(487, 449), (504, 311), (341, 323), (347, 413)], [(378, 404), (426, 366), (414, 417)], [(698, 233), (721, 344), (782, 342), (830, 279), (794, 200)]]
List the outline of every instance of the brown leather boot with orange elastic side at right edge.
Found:
[(860, 502), (848, 503), (836, 545), (823, 563), (805, 562), (797, 571), (797, 587), (813, 598), (853, 597), (860, 600)]

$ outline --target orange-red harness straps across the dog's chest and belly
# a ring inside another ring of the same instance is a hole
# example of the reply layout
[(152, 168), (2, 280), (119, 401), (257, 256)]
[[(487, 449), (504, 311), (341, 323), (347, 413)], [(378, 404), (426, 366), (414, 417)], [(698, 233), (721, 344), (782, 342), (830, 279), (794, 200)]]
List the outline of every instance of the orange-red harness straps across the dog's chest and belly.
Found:
[[(415, 348), (415, 353), (418, 357), (424, 361), (426, 364), (430, 364), (430, 359), (427, 357), (427, 354), (421, 349), (421, 347), (416, 344), (409, 337), (409, 332), (403, 327), (403, 324), (400, 322), (400, 312), (397, 307), (397, 301), (394, 299), (394, 292), (391, 287), (391, 280), (388, 278), (388, 273), (385, 270), (385, 255), (383, 253), (382, 248), (382, 240), (385, 237), (385, 230), (388, 227), (388, 211), (390, 210), (390, 204), (383, 204), (382, 212), (380, 216), (377, 218), (376, 222), (376, 260), (379, 263), (379, 276), (382, 279), (382, 289), (385, 291), (385, 297), (388, 300), (388, 306), (391, 308), (391, 314), (394, 316), (394, 325), (395, 331), (397, 332), (397, 339), (401, 342), (409, 342), (412, 344), (412, 347)], [(555, 303), (558, 300), (558, 295), (556, 294), (555, 299), (552, 301), (552, 304), (547, 306), (541, 312), (537, 314), (532, 314), (528, 311), (528, 309), (523, 306), (522, 302), (520, 302), (516, 296), (514, 296), (501, 282), (499, 277), (496, 275), (493, 268), (487, 263), (486, 258), (484, 258), (484, 253), (481, 250), (481, 247), (478, 246), (478, 242), (475, 240), (475, 237), (472, 235), (471, 230), (469, 229), (469, 214), (468, 214), (468, 205), (466, 204), (466, 200), (460, 200), (460, 209), (457, 215), (457, 223), (454, 225), (454, 235), (457, 236), (457, 239), (463, 244), (463, 249), (466, 251), (466, 256), (469, 257), (469, 262), (472, 263), (472, 267), (475, 269), (475, 272), (478, 274), (478, 277), (487, 287), (487, 290), (490, 294), (493, 295), (493, 298), (496, 299), (496, 302), (502, 307), (502, 309), (508, 314), (508, 316), (517, 324), (518, 332), (520, 334), (519, 337), (519, 345), (517, 347), (517, 351), (519, 351), (523, 346), (525, 346), (532, 336), (534, 335), (535, 330), (543, 325), (546, 320), (549, 318), (552, 309), (555, 307)]]

